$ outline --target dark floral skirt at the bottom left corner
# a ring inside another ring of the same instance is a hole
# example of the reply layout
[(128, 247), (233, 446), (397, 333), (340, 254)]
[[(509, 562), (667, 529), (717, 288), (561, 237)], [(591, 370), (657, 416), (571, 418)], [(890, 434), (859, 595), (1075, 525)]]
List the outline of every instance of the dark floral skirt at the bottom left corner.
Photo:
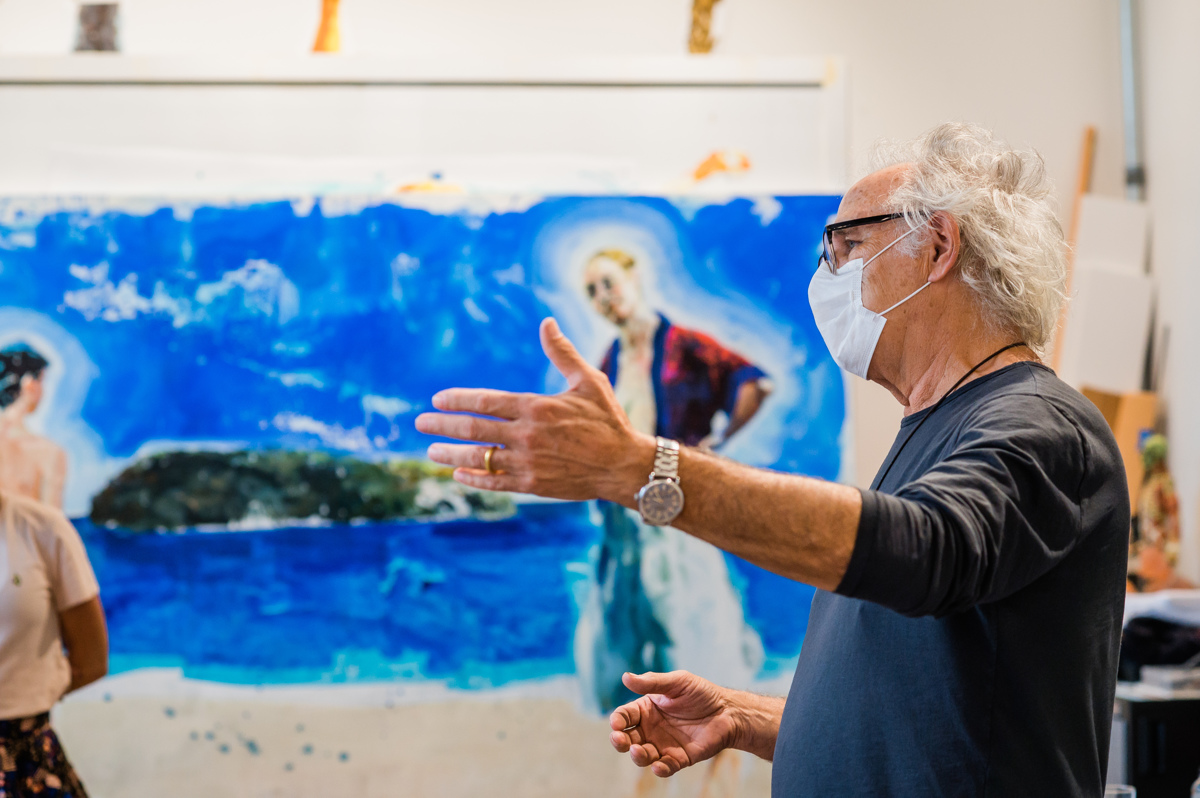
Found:
[(0, 798), (88, 798), (49, 713), (0, 720)]

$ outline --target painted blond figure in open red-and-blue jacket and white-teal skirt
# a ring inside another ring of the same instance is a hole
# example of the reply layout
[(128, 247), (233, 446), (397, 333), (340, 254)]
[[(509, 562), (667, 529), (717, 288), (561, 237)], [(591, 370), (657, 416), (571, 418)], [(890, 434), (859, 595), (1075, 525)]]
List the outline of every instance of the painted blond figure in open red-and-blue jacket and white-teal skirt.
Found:
[[(770, 392), (766, 373), (652, 308), (630, 254), (595, 253), (583, 282), (592, 306), (618, 330), (600, 370), (640, 432), (713, 449), (758, 412)], [(634, 697), (622, 684), (626, 671), (683, 664), (749, 686), (762, 665), (762, 644), (745, 623), (725, 556), (671, 527), (648, 526), (617, 504), (601, 502), (600, 511), (598, 583), (580, 624), (577, 655), (601, 708), (611, 712)], [(725, 760), (714, 760), (714, 774), (736, 773), (737, 761)], [(654, 779), (644, 781), (640, 792)]]

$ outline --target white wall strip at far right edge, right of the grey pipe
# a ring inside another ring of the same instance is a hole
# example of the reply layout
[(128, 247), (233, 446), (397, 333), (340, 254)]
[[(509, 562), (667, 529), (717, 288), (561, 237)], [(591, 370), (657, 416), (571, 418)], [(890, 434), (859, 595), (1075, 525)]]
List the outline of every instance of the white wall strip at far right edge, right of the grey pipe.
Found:
[(1151, 262), (1170, 326), (1160, 391), (1182, 510), (1181, 570), (1200, 581), (1200, 4), (1140, 6)]

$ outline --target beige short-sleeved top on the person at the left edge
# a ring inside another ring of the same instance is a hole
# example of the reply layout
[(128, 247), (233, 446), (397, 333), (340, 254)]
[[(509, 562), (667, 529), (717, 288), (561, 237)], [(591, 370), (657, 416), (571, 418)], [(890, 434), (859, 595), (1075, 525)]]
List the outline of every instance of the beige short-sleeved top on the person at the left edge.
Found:
[(71, 685), (59, 612), (100, 595), (60, 511), (0, 493), (0, 720), (49, 710)]

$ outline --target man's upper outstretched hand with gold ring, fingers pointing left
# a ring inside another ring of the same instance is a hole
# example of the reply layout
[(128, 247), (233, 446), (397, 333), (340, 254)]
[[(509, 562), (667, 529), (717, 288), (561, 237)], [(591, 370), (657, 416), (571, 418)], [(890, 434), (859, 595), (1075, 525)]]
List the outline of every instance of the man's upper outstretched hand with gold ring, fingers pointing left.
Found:
[(568, 389), (556, 396), (463, 388), (438, 392), (433, 407), (442, 412), (422, 413), (416, 428), (473, 443), (436, 443), (430, 460), (454, 466), (456, 480), (485, 491), (630, 504), (650, 470), (653, 438), (632, 428), (608, 378), (553, 319), (541, 323), (540, 335)]

